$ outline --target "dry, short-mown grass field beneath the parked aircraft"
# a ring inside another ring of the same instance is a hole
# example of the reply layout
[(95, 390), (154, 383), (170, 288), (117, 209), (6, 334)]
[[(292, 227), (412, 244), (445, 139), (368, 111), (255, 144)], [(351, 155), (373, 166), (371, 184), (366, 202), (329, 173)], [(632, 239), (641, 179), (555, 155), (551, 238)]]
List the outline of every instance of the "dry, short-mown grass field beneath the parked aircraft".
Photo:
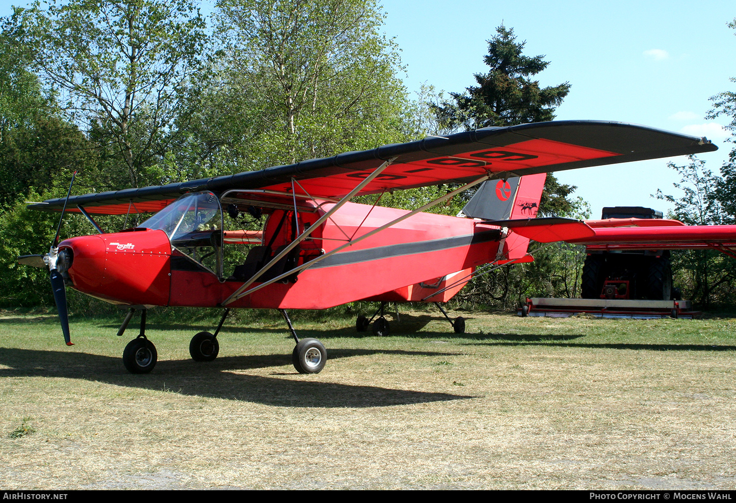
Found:
[[(352, 315), (291, 318), (327, 346), (291, 365), (283, 321), (157, 322), (158, 365), (124, 370), (118, 318), (0, 317), (0, 487), (736, 488), (730, 318), (601, 320), (408, 311), (388, 338)], [(121, 318), (121, 317), (120, 317)], [(304, 319), (302, 319), (304, 318)]]

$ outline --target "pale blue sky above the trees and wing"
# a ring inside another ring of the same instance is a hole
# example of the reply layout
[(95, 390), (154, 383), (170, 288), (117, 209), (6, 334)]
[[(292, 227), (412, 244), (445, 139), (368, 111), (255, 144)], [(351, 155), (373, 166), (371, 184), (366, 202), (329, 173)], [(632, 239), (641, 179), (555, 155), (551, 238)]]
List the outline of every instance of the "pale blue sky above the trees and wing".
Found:
[[(24, 0), (0, 0), (0, 16)], [(202, 12), (211, 11), (202, 2)], [(526, 40), (524, 54), (545, 55), (542, 86), (570, 82), (556, 111), (559, 120), (621, 121), (706, 136), (719, 151), (703, 154), (706, 168), (718, 171), (732, 144), (722, 126), (707, 121), (711, 96), (736, 91), (736, 18), (732, 0), (701, 1), (541, 1), (383, 0), (384, 32), (401, 50), (406, 87), (422, 84), (463, 92), (473, 74), (487, 71), (487, 40), (500, 24)], [(672, 206), (651, 197), (678, 196), (679, 177), (668, 161), (684, 157), (584, 168), (557, 174), (576, 185), (590, 203), (592, 218), (604, 206), (644, 206), (667, 212)]]

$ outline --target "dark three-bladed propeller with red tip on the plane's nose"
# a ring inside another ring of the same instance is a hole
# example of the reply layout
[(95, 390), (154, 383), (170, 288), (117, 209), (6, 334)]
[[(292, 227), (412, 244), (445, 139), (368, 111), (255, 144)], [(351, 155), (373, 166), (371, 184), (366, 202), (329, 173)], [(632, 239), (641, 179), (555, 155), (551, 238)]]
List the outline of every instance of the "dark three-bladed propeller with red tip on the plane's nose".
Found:
[(54, 235), (54, 240), (51, 242), (49, 253), (45, 255), (23, 255), (18, 257), (19, 264), (49, 268), (49, 279), (51, 280), (51, 288), (54, 293), (54, 302), (56, 303), (56, 309), (59, 313), (61, 331), (64, 334), (64, 341), (67, 346), (74, 346), (74, 343), (71, 342), (71, 337), (69, 335), (69, 313), (66, 307), (66, 285), (63, 273), (66, 272), (71, 265), (72, 256), (71, 251), (69, 250), (59, 251), (58, 244), (61, 222), (64, 218), (64, 212), (66, 211), (66, 202), (69, 200), (69, 196), (71, 195), (71, 186), (74, 185), (75, 176), (77, 176), (77, 171), (74, 171), (74, 174), (71, 175), (71, 183), (69, 184), (69, 190), (66, 193), (66, 201), (64, 201), (63, 210), (61, 210), (59, 225), (56, 228), (56, 235)]

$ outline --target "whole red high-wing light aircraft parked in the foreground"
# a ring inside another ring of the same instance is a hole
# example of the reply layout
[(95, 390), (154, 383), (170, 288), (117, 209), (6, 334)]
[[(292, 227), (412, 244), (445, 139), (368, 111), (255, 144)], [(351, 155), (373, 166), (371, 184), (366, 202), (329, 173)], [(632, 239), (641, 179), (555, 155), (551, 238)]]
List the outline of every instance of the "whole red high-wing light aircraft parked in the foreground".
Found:
[[(48, 254), (19, 261), (49, 267), (68, 345), (65, 283), (131, 307), (118, 335), (134, 310), (143, 310), (141, 334), (123, 353), (132, 373), (149, 372), (156, 363), (145, 315), (163, 305), (225, 308), (214, 334), (192, 338), (194, 360), (217, 356), (216, 337), (230, 308), (278, 309), (297, 341), (294, 367), (316, 373), (325, 365), (325, 346), (299, 340), (286, 309), (361, 299), (446, 301), (478, 265), (531, 260), (528, 237), (498, 221), (536, 215), (545, 173), (716, 149), (704, 138), (615, 122), (484, 128), (261, 171), (31, 204), (82, 213), (99, 235), (61, 243), (54, 238)], [(495, 209), (484, 209), (481, 200), (466, 212), (486, 222), (422, 213), (492, 179), (485, 200), (488, 194), (497, 198)], [(361, 194), (444, 183), (456, 188), (414, 211), (349, 202)], [(134, 229), (113, 233), (93, 219), (153, 212)]]

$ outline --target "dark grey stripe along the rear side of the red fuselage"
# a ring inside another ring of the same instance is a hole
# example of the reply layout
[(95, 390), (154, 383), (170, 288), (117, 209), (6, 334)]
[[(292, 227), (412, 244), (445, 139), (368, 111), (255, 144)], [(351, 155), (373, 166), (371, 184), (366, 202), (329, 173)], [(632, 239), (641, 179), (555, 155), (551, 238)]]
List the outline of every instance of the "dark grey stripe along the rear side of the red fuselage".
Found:
[(500, 238), (500, 230), (492, 229), (484, 232), (475, 232), (475, 234), (466, 234), (461, 236), (453, 236), (452, 238), (439, 238), (428, 241), (417, 241), (416, 243), (399, 243), (387, 246), (376, 246), (364, 250), (342, 251), (330, 255), (311, 268), (335, 267), (336, 265), (357, 264), (361, 262), (369, 262), (371, 260), (380, 260), (391, 257), (403, 257), (404, 255), (414, 255), (418, 253), (427, 253), (428, 251), (439, 251), (459, 246), (468, 246), (471, 244), (485, 243), (486, 241), (495, 241)]

